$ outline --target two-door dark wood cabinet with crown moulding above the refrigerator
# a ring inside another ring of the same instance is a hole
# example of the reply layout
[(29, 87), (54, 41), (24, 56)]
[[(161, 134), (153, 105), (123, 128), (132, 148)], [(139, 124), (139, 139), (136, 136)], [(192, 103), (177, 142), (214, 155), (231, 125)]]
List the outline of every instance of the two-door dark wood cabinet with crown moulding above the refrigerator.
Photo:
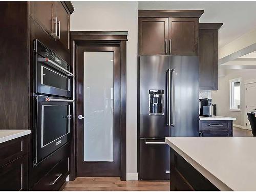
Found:
[(203, 10), (139, 10), (138, 55), (198, 55)]

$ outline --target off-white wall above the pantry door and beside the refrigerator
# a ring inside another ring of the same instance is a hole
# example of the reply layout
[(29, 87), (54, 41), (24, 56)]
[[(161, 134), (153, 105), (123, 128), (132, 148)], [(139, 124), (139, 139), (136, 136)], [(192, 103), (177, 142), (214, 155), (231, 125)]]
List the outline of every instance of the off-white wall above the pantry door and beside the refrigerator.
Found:
[(127, 180), (137, 175), (137, 2), (72, 2), (71, 30), (128, 31)]

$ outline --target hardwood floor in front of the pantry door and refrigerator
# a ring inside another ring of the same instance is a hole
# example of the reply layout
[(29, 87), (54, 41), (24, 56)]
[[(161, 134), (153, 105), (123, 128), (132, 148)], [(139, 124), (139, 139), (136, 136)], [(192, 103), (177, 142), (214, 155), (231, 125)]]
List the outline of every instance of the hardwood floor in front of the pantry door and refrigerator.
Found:
[[(65, 184), (64, 184), (65, 185)], [(77, 177), (62, 190), (169, 190), (169, 181), (121, 181), (119, 177)]]

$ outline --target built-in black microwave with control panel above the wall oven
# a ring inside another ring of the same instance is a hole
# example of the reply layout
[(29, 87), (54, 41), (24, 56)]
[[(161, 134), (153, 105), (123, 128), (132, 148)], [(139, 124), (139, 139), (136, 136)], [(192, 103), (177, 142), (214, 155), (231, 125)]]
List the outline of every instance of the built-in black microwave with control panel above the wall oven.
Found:
[(68, 63), (34, 40), (35, 94), (72, 97), (74, 75)]

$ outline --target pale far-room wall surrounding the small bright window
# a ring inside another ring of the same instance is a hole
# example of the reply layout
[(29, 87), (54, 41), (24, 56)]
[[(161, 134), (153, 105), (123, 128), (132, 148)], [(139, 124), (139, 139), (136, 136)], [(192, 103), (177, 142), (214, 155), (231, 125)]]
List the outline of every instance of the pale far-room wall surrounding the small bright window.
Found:
[[(255, 79), (256, 69), (226, 69), (225, 76), (219, 77), (219, 90), (212, 91), (212, 103), (217, 104), (217, 115), (236, 117), (234, 124), (244, 126), (244, 82)], [(241, 84), (241, 112), (228, 111), (229, 108), (229, 80), (242, 78)]]

